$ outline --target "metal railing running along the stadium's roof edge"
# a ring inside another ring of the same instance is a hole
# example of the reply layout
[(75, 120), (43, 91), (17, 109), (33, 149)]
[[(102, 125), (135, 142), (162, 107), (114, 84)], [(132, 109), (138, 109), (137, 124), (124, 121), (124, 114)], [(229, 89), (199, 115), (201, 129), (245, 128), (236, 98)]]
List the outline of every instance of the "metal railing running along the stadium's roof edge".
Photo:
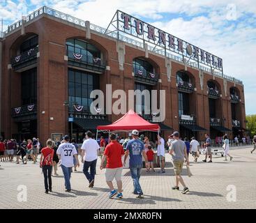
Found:
[[(35, 10), (30, 15), (27, 15), (26, 22), (34, 20), (39, 15), (43, 15), (43, 14), (50, 15), (52, 17), (57, 17), (61, 20), (65, 20), (66, 22), (73, 23), (73, 24), (75, 24), (77, 26), (81, 26), (83, 28), (86, 27), (86, 24), (85, 24), (84, 20), (77, 19), (76, 17), (73, 17), (73, 16), (68, 15), (66, 13), (61, 13), (58, 10), (54, 10), (54, 9), (49, 8), (47, 6), (43, 6), (42, 8), (39, 8), (38, 10)], [(15, 29), (20, 28), (20, 26), (22, 26), (22, 20), (17, 21), (14, 24), (11, 24), (10, 26), (8, 26), (8, 30), (3, 33), (3, 37), (6, 36), (6, 34), (10, 33), (11, 31), (14, 31)], [(111, 36), (112, 38), (115, 38), (115, 39), (119, 38), (119, 40), (121, 40), (123, 42), (126, 42), (126, 43), (130, 43), (130, 44), (135, 45), (137, 47), (142, 47), (142, 48), (144, 47), (144, 44), (142, 42), (134, 40), (132, 38), (128, 38), (127, 36), (121, 35), (120, 33), (118, 34), (117, 31), (106, 30), (105, 28), (97, 26), (95, 24), (90, 24), (90, 29), (93, 30), (93, 31), (96, 31), (98, 33), (101, 33), (101, 34)], [(165, 52), (165, 50), (160, 49), (158, 47), (156, 47), (156, 49), (155, 49), (155, 47), (152, 47), (152, 46), (148, 45), (148, 49), (149, 49), (149, 51), (155, 52), (156, 54), (160, 54), (162, 56), (167, 56), (167, 58), (173, 59), (174, 61), (178, 61), (180, 63), (183, 62), (182, 56), (176, 56), (174, 54), (170, 54), (168, 52)], [(188, 62), (188, 65), (193, 67), (193, 68), (197, 68), (197, 69), (204, 70), (206, 72), (213, 73), (213, 75), (216, 75), (218, 77), (222, 77), (222, 78), (227, 79), (231, 82), (235, 82), (235, 83), (238, 83), (238, 84), (243, 84), (243, 82), (241, 82), (241, 80), (239, 80), (239, 79), (236, 79), (234, 77), (230, 77), (230, 76), (227, 76), (227, 75), (223, 75), (222, 72), (213, 71), (209, 68), (206, 68), (205, 66), (201, 66), (201, 65), (198, 66), (198, 64), (195, 63), (195, 62)]]

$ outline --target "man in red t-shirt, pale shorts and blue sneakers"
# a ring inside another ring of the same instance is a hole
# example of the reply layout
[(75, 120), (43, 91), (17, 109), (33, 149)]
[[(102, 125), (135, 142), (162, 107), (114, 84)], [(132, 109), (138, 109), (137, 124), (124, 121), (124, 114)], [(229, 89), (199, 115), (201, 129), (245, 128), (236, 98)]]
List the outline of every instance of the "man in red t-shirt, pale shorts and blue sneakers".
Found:
[[(105, 171), (105, 178), (107, 185), (110, 187), (109, 197), (114, 197), (115, 194), (117, 198), (122, 198), (122, 181), (121, 175), (123, 170), (122, 156), (124, 155), (123, 146), (116, 141), (116, 134), (110, 134), (110, 144), (107, 145), (104, 151), (103, 159), (101, 160), (100, 169), (103, 169), (103, 164), (107, 158), (107, 165)], [(113, 187), (112, 181), (116, 178), (116, 184), (118, 188), (118, 193)]]

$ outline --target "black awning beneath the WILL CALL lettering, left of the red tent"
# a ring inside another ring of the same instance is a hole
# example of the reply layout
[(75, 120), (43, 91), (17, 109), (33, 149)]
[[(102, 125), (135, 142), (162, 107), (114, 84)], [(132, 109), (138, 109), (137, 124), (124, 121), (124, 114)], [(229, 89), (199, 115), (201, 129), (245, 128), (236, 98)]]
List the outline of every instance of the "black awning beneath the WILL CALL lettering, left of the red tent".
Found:
[(98, 125), (110, 125), (111, 122), (106, 119), (87, 119), (87, 118), (74, 118), (74, 123), (83, 130), (96, 130)]

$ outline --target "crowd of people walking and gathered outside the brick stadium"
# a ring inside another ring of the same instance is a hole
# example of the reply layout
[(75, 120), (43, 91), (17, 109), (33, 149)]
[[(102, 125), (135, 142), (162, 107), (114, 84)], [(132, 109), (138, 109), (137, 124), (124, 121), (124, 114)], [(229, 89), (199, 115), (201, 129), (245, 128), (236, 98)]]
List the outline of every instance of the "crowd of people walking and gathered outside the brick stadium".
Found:
[[(227, 134), (222, 137), (222, 141), (225, 161), (227, 161), (227, 157), (231, 161), (233, 157), (229, 154)], [(208, 158), (208, 162), (212, 162), (211, 144), (209, 134), (205, 134), (205, 141), (202, 144), (202, 151), (205, 155), (204, 160), (202, 160), (203, 162), (207, 162)], [(256, 149), (256, 136), (253, 137), (253, 144), (254, 148), (251, 153)], [(156, 151), (153, 148), (156, 148)], [(172, 187), (172, 190), (179, 190), (179, 184), (181, 184), (183, 186), (182, 193), (186, 194), (189, 189), (181, 176), (183, 163), (186, 162), (187, 167), (190, 165), (190, 154), (192, 154), (194, 162), (197, 162), (201, 147), (195, 137), (192, 137), (190, 141), (186, 137), (181, 140), (179, 132), (173, 132), (173, 134), (168, 136), (166, 142), (160, 133), (157, 135), (156, 141), (153, 142), (149, 137), (144, 137), (142, 134), (139, 136), (137, 130), (133, 130), (131, 137), (127, 139), (123, 137), (118, 139), (117, 135), (112, 133), (108, 141), (104, 137), (100, 137), (98, 142), (96, 139), (93, 139), (92, 132), (88, 131), (81, 146), (80, 160), (78, 157), (79, 146), (75, 143), (75, 139), (70, 139), (68, 135), (63, 137), (62, 141), (48, 139), (46, 147), (42, 149), (39, 139), (36, 138), (24, 140), (20, 143), (17, 143), (15, 139), (0, 140), (0, 157), (2, 162), (13, 162), (16, 156), (15, 162), (17, 164), (20, 163), (20, 160), (27, 164), (29, 157), (33, 163), (38, 162), (38, 154), (41, 153), (39, 164), (43, 171), (45, 193), (48, 194), (52, 192), (52, 176), (58, 175), (58, 165), (63, 172), (66, 192), (71, 192), (72, 190), (70, 176), (73, 168), (74, 171), (77, 171), (77, 167), (80, 167), (80, 162), (83, 164), (82, 170), (86, 180), (88, 180), (88, 186), (94, 187), (96, 164), (98, 156), (101, 155), (100, 169), (105, 168), (105, 180), (108, 187), (110, 187), (109, 197), (116, 196), (118, 199), (123, 197), (121, 176), (123, 167), (126, 166), (126, 162), (129, 160), (129, 169), (134, 185), (133, 194), (136, 194), (137, 198), (142, 199), (143, 191), (140, 185), (140, 176), (143, 162), (146, 172), (155, 172), (154, 164), (159, 163), (159, 173), (165, 173), (166, 148), (172, 156), (176, 177), (176, 184)], [(117, 190), (114, 189), (112, 183), (114, 179), (116, 180)]]

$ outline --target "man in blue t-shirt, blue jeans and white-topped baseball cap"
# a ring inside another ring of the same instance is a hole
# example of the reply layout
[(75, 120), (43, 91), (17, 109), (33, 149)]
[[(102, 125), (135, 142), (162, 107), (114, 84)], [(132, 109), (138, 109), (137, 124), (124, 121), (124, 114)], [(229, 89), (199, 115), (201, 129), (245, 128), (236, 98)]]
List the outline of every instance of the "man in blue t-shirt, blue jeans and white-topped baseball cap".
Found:
[(148, 159), (144, 150), (144, 144), (139, 139), (138, 130), (133, 130), (132, 132), (133, 139), (128, 141), (126, 146), (126, 155), (124, 157), (123, 166), (125, 166), (126, 159), (130, 155), (130, 174), (133, 178), (133, 194), (137, 194), (137, 198), (142, 199), (142, 187), (140, 187), (140, 174), (142, 172), (142, 155), (144, 157), (146, 166), (148, 164)]

